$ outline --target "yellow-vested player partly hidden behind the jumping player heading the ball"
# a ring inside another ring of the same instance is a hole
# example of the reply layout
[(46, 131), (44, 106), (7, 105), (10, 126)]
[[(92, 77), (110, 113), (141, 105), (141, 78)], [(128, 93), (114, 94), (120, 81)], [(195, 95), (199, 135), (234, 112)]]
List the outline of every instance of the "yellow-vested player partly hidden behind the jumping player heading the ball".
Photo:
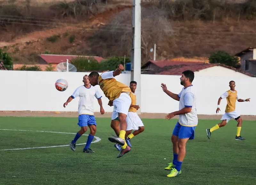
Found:
[[(136, 105), (136, 95), (135, 95), (136, 88), (137, 88), (137, 82), (131, 81), (130, 82), (130, 89), (131, 89), (132, 93), (130, 94), (130, 97), (132, 99), (132, 103), (131, 103), (128, 115), (126, 117), (127, 129), (126, 129), (126, 134), (125, 134), (125, 141), (126, 141), (127, 145), (130, 146), (130, 147), (132, 147), (130, 140), (134, 136), (136, 136), (139, 133), (144, 131), (144, 125), (143, 125), (140, 117), (136, 113), (136, 111), (138, 109), (140, 109), (140, 106)], [(109, 102), (108, 105), (112, 106), (112, 102)], [(119, 134), (118, 125), (119, 125), (118, 119), (111, 121), (111, 127), (113, 129), (116, 128), (116, 130), (115, 130), (116, 135)], [(134, 132), (132, 132), (132, 130), (134, 130)], [(120, 150), (120, 145), (118, 145), (117, 143), (115, 144), (115, 147), (116, 147), (117, 150)]]

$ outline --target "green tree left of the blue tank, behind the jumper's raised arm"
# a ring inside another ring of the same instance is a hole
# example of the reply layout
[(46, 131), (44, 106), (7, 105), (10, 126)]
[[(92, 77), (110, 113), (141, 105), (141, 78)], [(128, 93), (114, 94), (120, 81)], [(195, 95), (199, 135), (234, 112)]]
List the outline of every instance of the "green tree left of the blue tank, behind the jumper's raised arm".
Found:
[[(131, 58), (125, 58), (125, 63), (129, 62), (131, 62)], [(100, 70), (114, 71), (119, 64), (124, 65), (124, 57), (113, 56), (109, 59), (100, 62)]]

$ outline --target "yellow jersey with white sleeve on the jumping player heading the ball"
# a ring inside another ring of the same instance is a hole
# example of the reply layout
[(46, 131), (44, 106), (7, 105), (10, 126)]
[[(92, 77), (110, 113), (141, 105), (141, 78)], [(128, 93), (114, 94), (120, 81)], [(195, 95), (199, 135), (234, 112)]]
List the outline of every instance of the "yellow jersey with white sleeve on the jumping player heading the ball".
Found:
[(113, 71), (102, 73), (98, 78), (98, 83), (100, 89), (110, 101), (118, 98), (122, 92), (132, 92), (127, 85), (116, 81)]

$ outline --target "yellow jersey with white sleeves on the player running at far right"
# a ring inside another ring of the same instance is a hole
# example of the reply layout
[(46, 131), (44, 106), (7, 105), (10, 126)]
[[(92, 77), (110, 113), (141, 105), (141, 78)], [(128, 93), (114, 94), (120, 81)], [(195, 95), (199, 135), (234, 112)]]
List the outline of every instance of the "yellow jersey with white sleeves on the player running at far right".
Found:
[(227, 106), (225, 112), (232, 112), (236, 110), (236, 100), (238, 100), (237, 91), (228, 90), (220, 96), (222, 99), (227, 99)]

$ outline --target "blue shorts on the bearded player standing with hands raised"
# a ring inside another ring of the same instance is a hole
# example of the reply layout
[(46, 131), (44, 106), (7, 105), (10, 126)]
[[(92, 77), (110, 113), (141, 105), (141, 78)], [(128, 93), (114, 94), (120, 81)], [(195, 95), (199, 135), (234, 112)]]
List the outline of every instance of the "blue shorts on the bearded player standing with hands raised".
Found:
[(179, 122), (175, 125), (172, 134), (178, 136), (179, 139), (194, 139), (195, 138), (195, 126), (182, 126)]

